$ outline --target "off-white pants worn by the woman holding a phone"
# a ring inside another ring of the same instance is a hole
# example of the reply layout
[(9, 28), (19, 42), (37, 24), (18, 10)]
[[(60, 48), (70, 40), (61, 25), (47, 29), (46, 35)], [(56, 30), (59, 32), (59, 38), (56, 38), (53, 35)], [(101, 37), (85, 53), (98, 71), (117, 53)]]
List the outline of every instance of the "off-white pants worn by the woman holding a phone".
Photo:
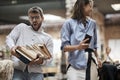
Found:
[[(87, 56), (87, 55), (86, 55)], [(96, 60), (94, 54), (92, 57)], [(90, 80), (98, 80), (98, 71), (96, 64), (91, 61), (91, 79)], [(84, 70), (76, 70), (73, 67), (70, 67), (67, 71), (67, 80), (85, 80), (86, 77), (86, 69)]]

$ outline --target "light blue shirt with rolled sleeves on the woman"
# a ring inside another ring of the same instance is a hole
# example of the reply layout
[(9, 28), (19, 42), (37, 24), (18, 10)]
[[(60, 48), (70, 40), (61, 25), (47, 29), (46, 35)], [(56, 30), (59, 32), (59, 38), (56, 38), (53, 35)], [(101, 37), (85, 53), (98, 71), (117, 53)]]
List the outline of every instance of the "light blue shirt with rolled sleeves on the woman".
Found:
[[(68, 19), (62, 26), (61, 29), (61, 49), (66, 45), (78, 45), (85, 35), (92, 36), (89, 48), (97, 48), (97, 33), (96, 33), (96, 22), (87, 18), (86, 27), (81, 22), (77, 22), (75, 19)], [(87, 67), (87, 59), (85, 50), (75, 50), (69, 52), (68, 63), (70, 63), (76, 69), (85, 69)]]

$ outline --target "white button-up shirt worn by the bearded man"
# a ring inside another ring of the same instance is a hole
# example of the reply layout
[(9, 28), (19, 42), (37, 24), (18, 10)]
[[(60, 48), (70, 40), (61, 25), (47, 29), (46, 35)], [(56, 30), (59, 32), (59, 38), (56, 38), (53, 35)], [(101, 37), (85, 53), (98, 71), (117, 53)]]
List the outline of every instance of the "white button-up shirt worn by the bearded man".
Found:
[[(32, 44), (45, 44), (50, 51), (51, 55), (53, 53), (53, 40), (52, 37), (45, 33), (42, 28), (38, 31), (34, 31), (31, 26), (28, 26), (24, 23), (18, 24), (11, 33), (6, 37), (6, 44), (11, 49), (13, 46), (25, 46), (25, 45), (32, 45)], [(15, 69), (18, 70), (25, 70), (26, 64), (20, 61), (17, 57), (12, 56), (12, 60), (14, 62)], [(41, 66), (50, 63), (52, 59), (44, 61), (41, 65), (31, 65), (28, 66), (28, 72), (38, 72), (41, 73), (42, 69)]]

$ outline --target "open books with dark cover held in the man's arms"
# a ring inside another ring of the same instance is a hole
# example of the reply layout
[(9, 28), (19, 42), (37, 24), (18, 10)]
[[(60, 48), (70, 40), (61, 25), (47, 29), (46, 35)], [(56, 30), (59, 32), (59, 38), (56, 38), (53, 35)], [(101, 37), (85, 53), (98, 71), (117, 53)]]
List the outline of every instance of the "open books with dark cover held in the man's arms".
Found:
[(18, 58), (25, 64), (29, 64), (39, 57), (43, 59), (50, 59), (52, 57), (45, 44), (18, 46), (15, 51), (19, 55)]

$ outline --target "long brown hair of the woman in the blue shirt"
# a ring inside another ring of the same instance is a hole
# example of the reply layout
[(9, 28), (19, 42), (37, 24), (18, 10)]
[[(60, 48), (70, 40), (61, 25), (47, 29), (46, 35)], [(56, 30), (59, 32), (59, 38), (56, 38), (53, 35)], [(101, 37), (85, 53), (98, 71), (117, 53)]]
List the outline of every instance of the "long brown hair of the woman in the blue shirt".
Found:
[(77, 19), (77, 21), (82, 21), (82, 23), (86, 23), (86, 16), (84, 11), (84, 6), (89, 4), (90, 0), (77, 0), (73, 7), (73, 19)]

